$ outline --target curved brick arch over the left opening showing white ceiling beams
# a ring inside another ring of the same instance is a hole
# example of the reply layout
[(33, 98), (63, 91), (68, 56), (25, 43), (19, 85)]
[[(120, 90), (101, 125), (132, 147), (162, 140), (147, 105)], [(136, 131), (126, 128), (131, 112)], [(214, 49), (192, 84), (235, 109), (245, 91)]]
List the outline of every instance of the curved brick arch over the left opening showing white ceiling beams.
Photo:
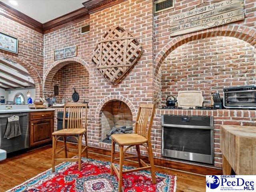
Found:
[(39, 98), (39, 96), (42, 96), (41, 77), (30, 62), (27, 62), (26, 60), (24, 60), (16, 55), (4, 54), (4, 52), (0, 52), (0, 60), (1, 60), (1, 58), (7, 58), (10, 60), (13, 60), (14, 62), (16, 62), (16, 63), (20, 64), (22, 67), (24, 67), (28, 71), (28, 73), (30, 74), (30, 77), (34, 81), (35, 88), (36, 88), (36, 98)]

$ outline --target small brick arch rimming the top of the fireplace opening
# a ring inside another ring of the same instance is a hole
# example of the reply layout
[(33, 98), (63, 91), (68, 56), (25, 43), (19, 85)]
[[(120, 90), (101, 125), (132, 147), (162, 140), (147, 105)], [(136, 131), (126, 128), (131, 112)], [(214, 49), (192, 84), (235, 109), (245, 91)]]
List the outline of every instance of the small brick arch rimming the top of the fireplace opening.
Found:
[(132, 112), (132, 117), (136, 118), (137, 114), (136, 114), (136, 110), (134, 108), (134, 105), (132, 104), (132, 102), (130, 100), (128, 100), (128, 98), (122, 96), (122, 95), (111, 95), (108, 96), (106, 98), (104, 98), (100, 104), (98, 104), (98, 107), (96, 109), (96, 118), (100, 118), (100, 110), (110, 101), (112, 100), (120, 100), (122, 102), (124, 102), (131, 110)]

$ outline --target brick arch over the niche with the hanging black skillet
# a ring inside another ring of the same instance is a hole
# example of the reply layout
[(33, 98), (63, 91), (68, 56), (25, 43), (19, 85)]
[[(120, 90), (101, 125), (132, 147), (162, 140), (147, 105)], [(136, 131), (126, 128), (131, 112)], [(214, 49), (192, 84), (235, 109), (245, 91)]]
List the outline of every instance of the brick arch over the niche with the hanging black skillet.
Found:
[(60, 70), (60, 68), (62, 68), (67, 64), (74, 64), (74, 63), (82, 64), (90, 74), (89, 65), (80, 58), (76, 57), (76, 58), (66, 58), (62, 60), (57, 60), (52, 64), (50, 68), (48, 68), (48, 70), (46, 71), (46, 74), (44, 75), (44, 84), (43, 84), (44, 91), (45, 91), (45, 87), (52, 82), (54, 75), (58, 72), (58, 70)]

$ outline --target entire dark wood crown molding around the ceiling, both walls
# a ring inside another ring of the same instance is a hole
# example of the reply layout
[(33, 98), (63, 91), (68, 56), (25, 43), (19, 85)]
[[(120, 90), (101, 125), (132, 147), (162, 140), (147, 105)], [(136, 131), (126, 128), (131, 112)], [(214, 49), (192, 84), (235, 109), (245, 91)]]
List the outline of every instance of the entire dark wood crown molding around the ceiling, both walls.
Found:
[(84, 7), (50, 20), (44, 24), (0, 2), (0, 14), (42, 34), (50, 33), (71, 24), (90, 18), (90, 14), (122, 3), (126, 0), (88, 0)]

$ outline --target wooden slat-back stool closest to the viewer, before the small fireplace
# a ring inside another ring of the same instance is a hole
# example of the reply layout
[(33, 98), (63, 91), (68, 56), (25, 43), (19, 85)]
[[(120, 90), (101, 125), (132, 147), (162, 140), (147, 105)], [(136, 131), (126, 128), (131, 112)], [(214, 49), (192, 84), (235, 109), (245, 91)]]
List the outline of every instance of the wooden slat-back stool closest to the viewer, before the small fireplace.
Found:
[[(112, 137), (112, 149), (111, 149), (111, 172), (113, 175), (113, 170), (119, 179), (118, 191), (122, 191), (122, 174), (130, 173), (139, 170), (151, 169), (152, 183), (156, 184), (156, 174), (154, 168), (154, 158), (152, 153), (152, 145), (150, 141), (151, 127), (155, 113), (154, 104), (140, 104), (138, 110), (138, 116), (135, 124), (135, 134), (113, 134)], [(148, 128), (147, 128), (148, 127)], [(114, 158), (115, 144), (118, 144), (120, 148), (120, 158)], [(146, 145), (147, 144), (147, 145)], [(140, 158), (140, 145), (144, 146), (148, 151), (150, 165), (146, 164)], [(124, 146), (128, 146), (124, 150)], [(138, 156), (128, 156), (124, 158), (125, 152), (132, 146), (136, 146)], [(123, 170), (124, 159), (138, 157), (139, 168), (132, 170)], [(119, 170), (114, 166), (114, 160), (119, 160)]]

